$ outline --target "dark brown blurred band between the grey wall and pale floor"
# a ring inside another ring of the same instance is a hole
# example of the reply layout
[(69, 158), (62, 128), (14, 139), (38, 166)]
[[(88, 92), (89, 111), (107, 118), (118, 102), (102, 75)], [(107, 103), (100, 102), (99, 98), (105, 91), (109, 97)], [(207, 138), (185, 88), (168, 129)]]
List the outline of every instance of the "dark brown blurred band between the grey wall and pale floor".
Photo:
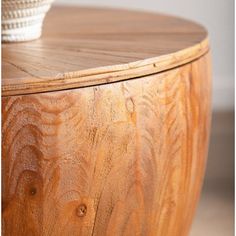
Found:
[(204, 190), (234, 192), (234, 111), (216, 111), (212, 128)]

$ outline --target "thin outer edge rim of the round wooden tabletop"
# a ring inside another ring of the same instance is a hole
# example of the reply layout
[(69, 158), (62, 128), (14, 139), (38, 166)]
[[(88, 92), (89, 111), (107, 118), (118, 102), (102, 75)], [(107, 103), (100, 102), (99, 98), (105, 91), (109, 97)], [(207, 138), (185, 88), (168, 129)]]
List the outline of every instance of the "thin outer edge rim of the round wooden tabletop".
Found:
[[(70, 7), (71, 6), (66, 8)], [(64, 6), (56, 6), (56, 8), (64, 8)], [(135, 79), (137, 77), (144, 77), (151, 74), (162, 73), (167, 70), (180, 67), (184, 64), (191, 63), (192, 61), (202, 57), (209, 51), (209, 38), (206, 29), (201, 24), (198, 24), (192, 20), (184, 19), (179, 16), (172, 16), (163, 13), (155, 13), (152, 11), (151, 12), (142, 11), (139, 9), (130, 10), (122, 8), (110, 8), (110, 7), (102, 8), (93, 6), (92, 7), (83, 6), (82, 9), (118, 10), (118, 11), (127, 11), (133, 13), (137, 12), (137, 13), (144, 13), (144, 14), (147, 13), (152, 15), (170, 16), (173, 18), (182, 19), (195, 25), (198, 25), (203, 30), (205, 30), (205, 38), (203, 38), (201, 42), (196, 43), (193, 46), (184, 48), (182, 50), (170, 54), (160, 55), (157, 57), (146, 58), (138, 61), (132, 61), (129, 63), (95, 67), (78, 71), (69, 71), (64, 74), (58, 74), (56, 77), (42, 78), (42, 80), (37, 79), (37, 82), (24, 82), (18, 84), (2, 83), (2, 97), (84, 88), (89, 86), (96, 86), (96, 85), (98, 86), (102, 84), (120, 82), (128, 79), (129, 80)], [(94, 74), (94, 70), (98, 70), (98, 73)], [(132, 70), (139, 71), (137, 72), (139, 73), (138, 76), (132, 75), (133, 74)], [(124, 73), (127, 74), (124, 76)], [(96, 79), (94, 77), (98, 78)], [(2, 82), (4, 82), (4, 79), (2, 79)], [(46, 84), (49, 86), (46, 86)]]

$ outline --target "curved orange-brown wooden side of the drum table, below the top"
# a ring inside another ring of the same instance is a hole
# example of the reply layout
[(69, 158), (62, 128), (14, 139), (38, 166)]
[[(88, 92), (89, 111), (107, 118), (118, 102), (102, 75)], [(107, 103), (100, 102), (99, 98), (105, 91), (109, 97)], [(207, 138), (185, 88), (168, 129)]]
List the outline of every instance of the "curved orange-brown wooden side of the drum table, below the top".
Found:
[(187, 235), (210, 80), (206, 55), (141, 79), (3, 98), (3, 235)]

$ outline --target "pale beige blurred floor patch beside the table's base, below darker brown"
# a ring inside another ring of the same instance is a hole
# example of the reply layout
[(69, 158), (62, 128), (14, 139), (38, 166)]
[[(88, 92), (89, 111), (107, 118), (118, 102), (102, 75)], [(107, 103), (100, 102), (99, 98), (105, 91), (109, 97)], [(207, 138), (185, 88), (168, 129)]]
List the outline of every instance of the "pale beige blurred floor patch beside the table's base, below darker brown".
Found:
[(232, 191), (202, 193), (190, 236), (233, 236), (234, 197)]

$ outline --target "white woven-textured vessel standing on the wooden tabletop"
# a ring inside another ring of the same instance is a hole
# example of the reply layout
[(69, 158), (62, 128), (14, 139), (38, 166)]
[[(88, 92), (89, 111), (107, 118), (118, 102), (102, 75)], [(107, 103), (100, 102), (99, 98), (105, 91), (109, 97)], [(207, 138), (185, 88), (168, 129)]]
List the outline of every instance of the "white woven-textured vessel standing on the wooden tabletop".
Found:
[(54, 0), (3, 0), (2, 41), (21, 42), (41, 36), (44, 17)]

